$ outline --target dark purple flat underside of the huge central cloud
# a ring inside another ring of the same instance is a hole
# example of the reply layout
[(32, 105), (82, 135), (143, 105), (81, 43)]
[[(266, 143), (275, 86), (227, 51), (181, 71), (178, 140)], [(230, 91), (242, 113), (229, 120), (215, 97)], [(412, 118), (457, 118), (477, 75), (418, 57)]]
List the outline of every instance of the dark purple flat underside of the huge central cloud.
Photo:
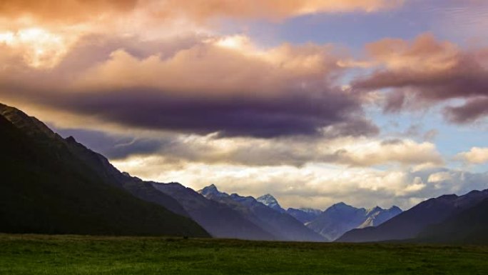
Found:
[(173, 130), (220, 136), (316, 135), (321, 127), (337, 125), (336, 136), (377, 134), (377, 128), (363, 121), (360, 104), (340, 94), (322, 98), (306, 95), (275, 99), (178, 98), (173, 93), (145, 89), (56, 96), (44, 104), (104, 121), (143, 129)]

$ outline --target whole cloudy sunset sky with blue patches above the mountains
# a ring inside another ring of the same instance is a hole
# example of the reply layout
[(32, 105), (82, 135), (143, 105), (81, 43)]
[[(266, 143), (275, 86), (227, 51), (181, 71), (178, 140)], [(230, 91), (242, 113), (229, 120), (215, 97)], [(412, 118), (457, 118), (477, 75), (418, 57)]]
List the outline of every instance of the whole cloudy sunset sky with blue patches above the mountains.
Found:
[(484, 0), (4, 0), (0, 102), (141, 179), (285, 207), (488, 188)]

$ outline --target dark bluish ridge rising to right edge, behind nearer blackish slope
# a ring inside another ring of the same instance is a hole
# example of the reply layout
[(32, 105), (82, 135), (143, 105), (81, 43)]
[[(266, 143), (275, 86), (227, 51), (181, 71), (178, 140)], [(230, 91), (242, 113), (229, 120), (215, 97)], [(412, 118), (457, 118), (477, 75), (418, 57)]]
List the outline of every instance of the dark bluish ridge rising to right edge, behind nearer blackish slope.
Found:
[(427, 226), (438, 224), (449, 216), (457, 215), (487, 198), (488, 190), (472, 191), (464, 196), (444, 195), (428, 199), (380, 226), (348, 231), (337, 241), (365, 242), (412, 239), (422, 230), (427, 229)]

